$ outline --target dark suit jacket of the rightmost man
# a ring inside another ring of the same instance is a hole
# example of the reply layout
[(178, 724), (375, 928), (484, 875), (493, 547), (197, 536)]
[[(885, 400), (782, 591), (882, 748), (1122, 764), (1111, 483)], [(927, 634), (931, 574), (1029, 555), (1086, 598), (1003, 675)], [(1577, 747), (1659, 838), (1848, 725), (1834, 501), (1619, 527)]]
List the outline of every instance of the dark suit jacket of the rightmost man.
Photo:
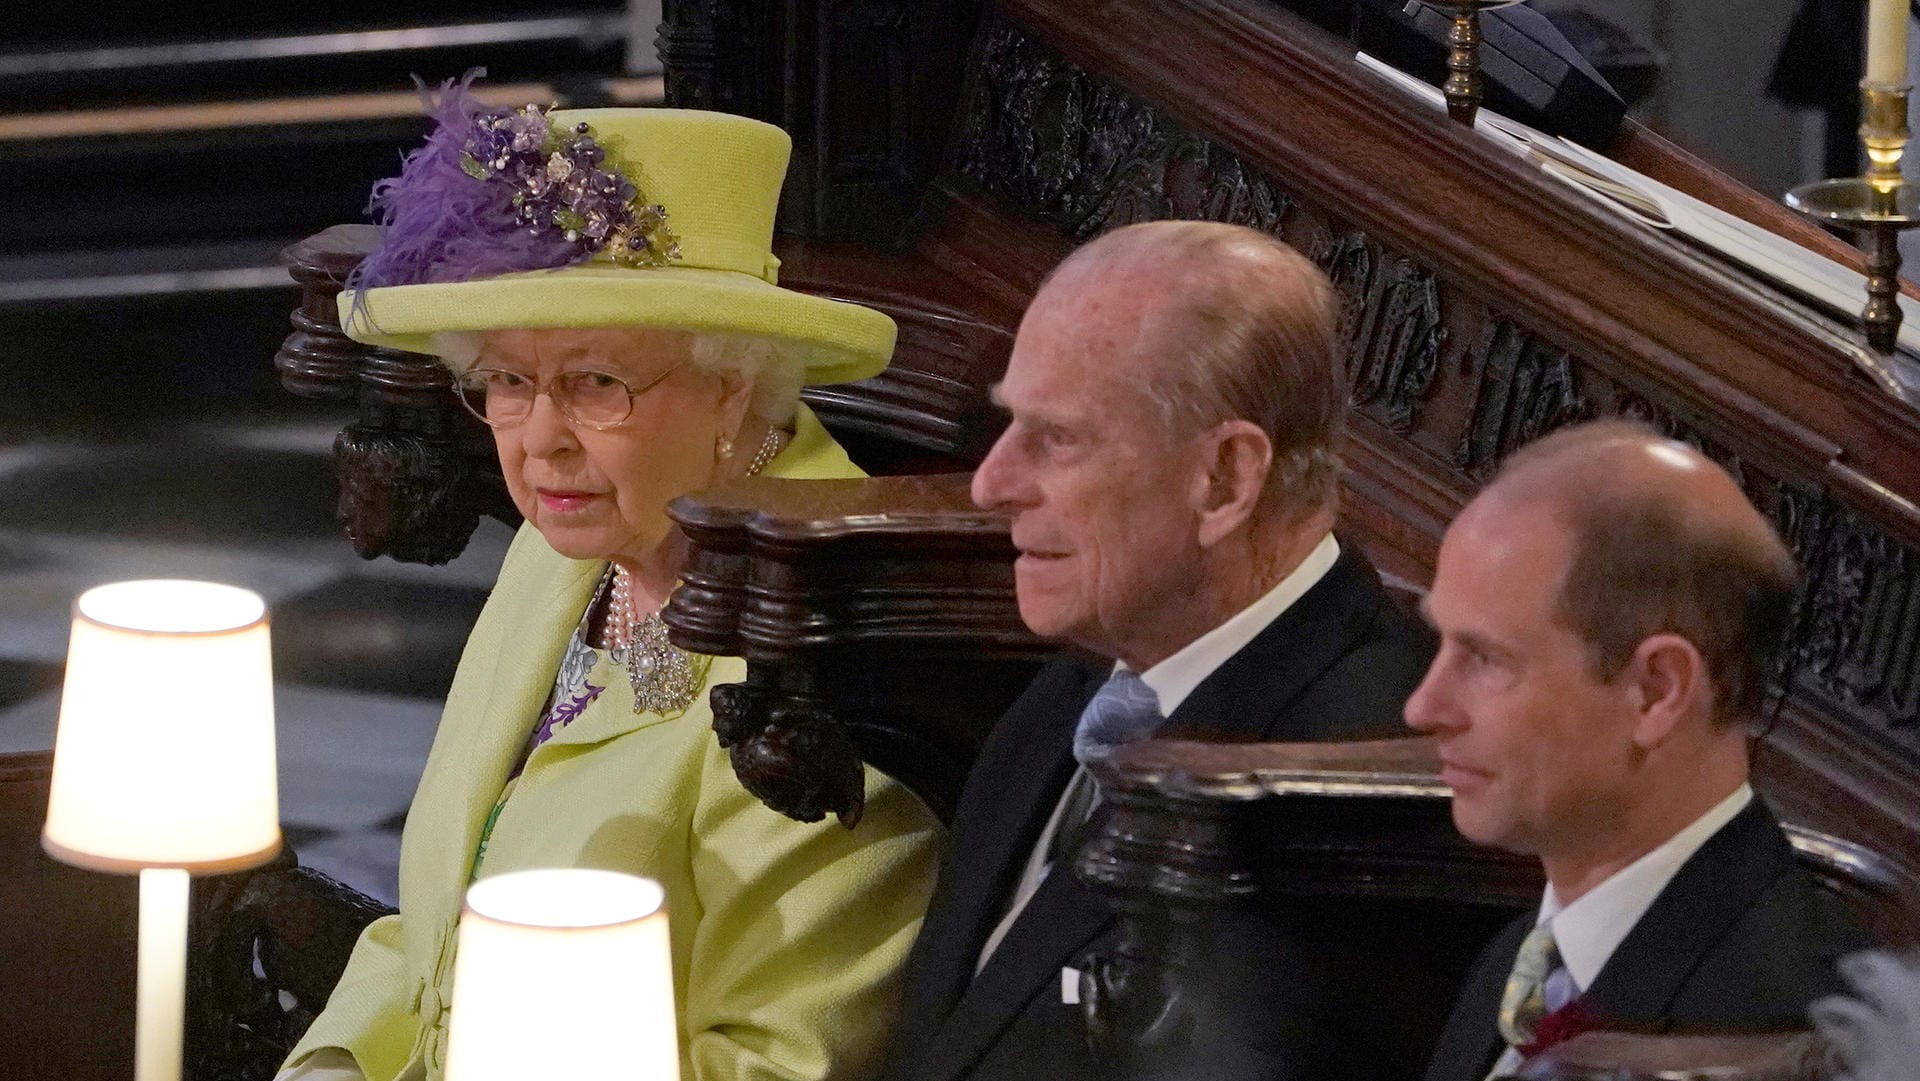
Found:
[[(1500, 997), (1536, 912), (1480, 952), (1427, 1081), (1482, 1081), (1505, 1050)], [(1759, 797), (1707, 839), (1626, 933), (1580, 1006), (1588, 1027), (1740, 1033), (1807, 1027), (1807, 1004), (1845, 991), (1834, 962), (1872, 947), (1799, 866)]]

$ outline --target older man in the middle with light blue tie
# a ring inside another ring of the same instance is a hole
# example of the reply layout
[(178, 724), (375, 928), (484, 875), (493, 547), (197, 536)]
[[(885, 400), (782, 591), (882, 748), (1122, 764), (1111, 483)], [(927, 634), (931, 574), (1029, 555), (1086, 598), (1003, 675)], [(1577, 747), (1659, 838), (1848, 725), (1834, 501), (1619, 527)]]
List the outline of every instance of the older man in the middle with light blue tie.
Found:
[[(1196, 221), (1102, 236), (1033, 298), (996, 388), (1012, 424), (973, 499), (1012, 516), (1027, 626), (1106, 661), (1046, 668), (981, 751), (908, 964), (893, 1081), (1102, 1077), (1071, 995), (1114, 931), (1071, 870), (1081, 764), (1156, 733), (1404, 732), (1430, 645), (1331, 532), (1334, 326), (1308, 259)], [(1317, 1025), (1281, 1029), (1233, 1075), (1340, 1075), (1308, 1048)]]

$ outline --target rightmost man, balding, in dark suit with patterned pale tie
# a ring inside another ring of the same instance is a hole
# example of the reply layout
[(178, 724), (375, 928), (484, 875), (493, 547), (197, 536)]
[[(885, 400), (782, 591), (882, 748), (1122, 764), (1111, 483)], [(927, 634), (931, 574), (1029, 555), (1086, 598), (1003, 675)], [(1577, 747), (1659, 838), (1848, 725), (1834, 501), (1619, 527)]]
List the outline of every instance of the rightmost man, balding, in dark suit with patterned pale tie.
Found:
[(1578, 1031), (1807, 1025), (1868, 945), (1747, 785), (1795, 566), (1699, 451), (1607, 420), (1507, 463), (1448, 530), (1407, 701), (1453, 822), (1540, 858), (1540, 910), (1480, 954), (1428, 1081)]

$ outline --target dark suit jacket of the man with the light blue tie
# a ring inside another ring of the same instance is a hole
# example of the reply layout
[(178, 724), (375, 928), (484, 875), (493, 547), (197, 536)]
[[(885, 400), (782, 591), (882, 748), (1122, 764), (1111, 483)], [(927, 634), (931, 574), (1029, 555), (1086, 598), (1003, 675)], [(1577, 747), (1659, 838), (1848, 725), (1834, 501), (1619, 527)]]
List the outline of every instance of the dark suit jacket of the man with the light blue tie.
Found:
[[(1227, 741), (1405, 733), (1400, 710), (1430, 636), (1352, 551), (1194, 687), (1160, 735)], [(1108, 902), (1054, 866), (987, 968), (981, 947), (1073, 776), (1073, 726), (1112, 662), (1044, 668), (987, 739), (954, 814), (947, 864), (908, 962), (893, 1081), (1098, 1077), (1060, 970), (1114, 931)]]

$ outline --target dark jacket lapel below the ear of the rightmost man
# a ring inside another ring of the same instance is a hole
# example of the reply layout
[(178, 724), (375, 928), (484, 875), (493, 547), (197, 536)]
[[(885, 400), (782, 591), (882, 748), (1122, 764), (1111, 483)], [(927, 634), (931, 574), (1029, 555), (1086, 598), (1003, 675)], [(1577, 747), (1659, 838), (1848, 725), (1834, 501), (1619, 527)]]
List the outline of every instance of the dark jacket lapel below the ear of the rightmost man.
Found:
[(1793, 847), (1753, 797), (1682, 864), (1594, 977), (1586, 998), (1603, 1023), (1665, 1029), (1701, 958), (1791, 868)]

